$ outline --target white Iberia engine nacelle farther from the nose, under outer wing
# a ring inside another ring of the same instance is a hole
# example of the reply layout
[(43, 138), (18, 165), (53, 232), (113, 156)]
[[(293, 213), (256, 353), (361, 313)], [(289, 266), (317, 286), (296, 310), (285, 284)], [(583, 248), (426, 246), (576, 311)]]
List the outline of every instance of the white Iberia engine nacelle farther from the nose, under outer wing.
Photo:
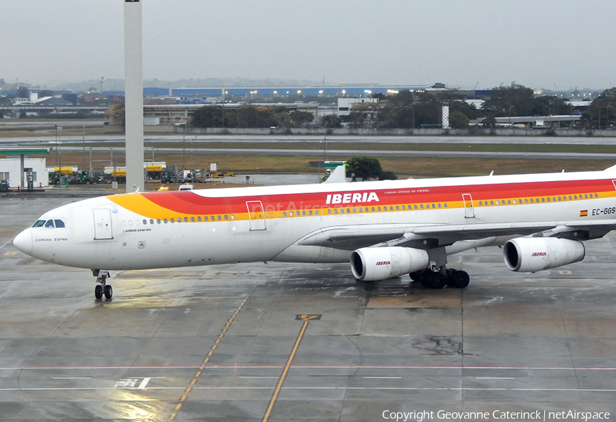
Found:
[(504, 244), (505, 264), (511, 271), (532, 273), (584, 259), (586, 249), (578, 240), (516, 238)]

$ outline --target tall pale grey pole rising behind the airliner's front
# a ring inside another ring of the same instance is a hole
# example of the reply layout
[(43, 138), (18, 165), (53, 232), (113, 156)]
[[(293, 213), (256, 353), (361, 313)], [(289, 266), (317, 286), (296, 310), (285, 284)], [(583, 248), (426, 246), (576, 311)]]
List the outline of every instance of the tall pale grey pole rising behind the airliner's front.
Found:
[(143, 57), (141, 1), (124, 2), (124, 79), (126, 97), (126, 191), (144, 190)]

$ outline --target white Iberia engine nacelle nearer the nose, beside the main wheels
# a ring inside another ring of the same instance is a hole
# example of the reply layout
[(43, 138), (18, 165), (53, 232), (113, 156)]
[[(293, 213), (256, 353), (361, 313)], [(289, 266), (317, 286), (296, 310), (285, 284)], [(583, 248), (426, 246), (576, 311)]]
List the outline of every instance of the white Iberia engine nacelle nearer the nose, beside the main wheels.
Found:
[(375, 282), (428, 268), (424, 249), (410, 247), (363, 247), (351, 254), (351, 270), (358, 280)]

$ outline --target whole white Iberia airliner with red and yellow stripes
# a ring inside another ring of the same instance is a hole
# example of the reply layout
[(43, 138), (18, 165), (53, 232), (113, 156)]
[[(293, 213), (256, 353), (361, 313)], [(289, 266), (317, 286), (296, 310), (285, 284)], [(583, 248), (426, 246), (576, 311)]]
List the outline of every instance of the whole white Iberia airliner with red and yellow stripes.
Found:
[(46, 212), (14, 245), (91, 269), (94, 296), (111, 299), (110, 271), (268, 261), (350, 262), (357, 280), (409, 274), (426, 288), (465, 288), (468, 273), (447, 268), (454, 253), (500, 246), (509, 270), (535, 272), (581, 261), (583, 241), (615, 228), (612, 166), (125, 193)]

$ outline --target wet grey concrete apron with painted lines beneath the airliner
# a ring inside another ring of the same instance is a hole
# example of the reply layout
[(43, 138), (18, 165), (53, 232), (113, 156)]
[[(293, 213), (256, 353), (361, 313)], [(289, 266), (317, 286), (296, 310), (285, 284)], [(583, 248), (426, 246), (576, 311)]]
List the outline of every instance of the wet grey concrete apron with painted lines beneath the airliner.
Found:
[(497, 248), (461, 253), (463, 290), (259, 262), (123, 271), (97, 301), (90, 271), (10, 243), (75, 200), (0, 199), (0, 421), (615, 420), (613, 234), (534, 274), (508, 271)]

